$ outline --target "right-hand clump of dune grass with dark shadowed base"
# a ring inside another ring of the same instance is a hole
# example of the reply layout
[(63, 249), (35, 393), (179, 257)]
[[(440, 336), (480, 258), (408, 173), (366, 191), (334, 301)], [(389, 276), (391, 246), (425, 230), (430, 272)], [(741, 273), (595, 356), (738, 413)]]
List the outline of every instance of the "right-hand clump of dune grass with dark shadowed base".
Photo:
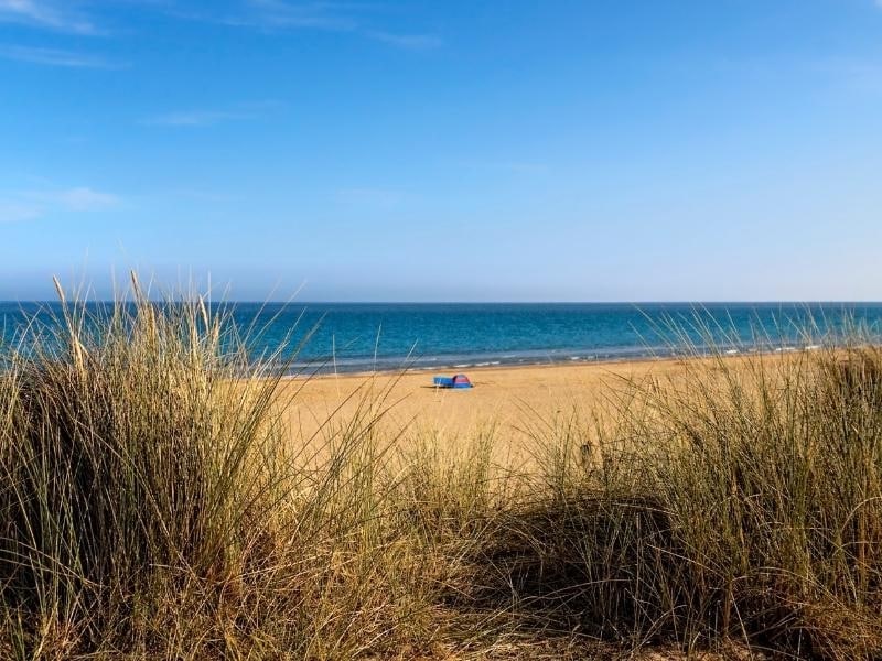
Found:
[(631, 647), (882, 654), (882, 349), (685, 361), (537, 434), (478, 603)]

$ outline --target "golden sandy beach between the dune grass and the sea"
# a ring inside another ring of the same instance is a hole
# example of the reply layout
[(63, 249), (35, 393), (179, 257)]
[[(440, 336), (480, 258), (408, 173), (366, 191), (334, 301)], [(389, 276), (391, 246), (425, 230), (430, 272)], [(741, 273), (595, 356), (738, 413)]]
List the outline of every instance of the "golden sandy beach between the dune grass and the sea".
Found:
[[(473, 449), (478, 438), (492, 436), (497, 466), (533, 470), (541, 449), (537, 441), (559, 438), (568, 427), (588, 442), (595, 422), (592, 416), (604, 408), (609, 411), (607, 404), (621, 403), (619, 395), (633, 383), (677, 383), (690, 369), (716, 371), (718, 360), (749, 369), (757, 360), (768, 367), (800, 355), (470, 368), (463, 371), (474, 387), (463, 390), (432, 384), (433, 376), (452, 376), (459, 373), (456, 369), (295, 377), (284, 380), (280, 402), (286, 407), (287, 433), (295, 443), (313, 448), (322, 447), (345, 426), (357, 426), (353, 421), (362, 412), (363, 423), (372, 421), (383, 438), (400, 448), (429, 442), (455, 456)], [(322, 454), (319, 451), (315, 456)]]

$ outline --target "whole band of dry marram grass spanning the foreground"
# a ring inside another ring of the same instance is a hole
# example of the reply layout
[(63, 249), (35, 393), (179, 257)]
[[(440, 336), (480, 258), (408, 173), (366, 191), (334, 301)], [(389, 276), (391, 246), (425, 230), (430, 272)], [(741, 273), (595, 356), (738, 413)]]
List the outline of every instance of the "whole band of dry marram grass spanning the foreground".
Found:
[(278, 356), (198, 297), (63, 311), (0, 349), (0, 658), (882, 655), (857, 332), (535, 412), (513, 474), (505, 421), (389, 435), (381, 388), (299, 437)]

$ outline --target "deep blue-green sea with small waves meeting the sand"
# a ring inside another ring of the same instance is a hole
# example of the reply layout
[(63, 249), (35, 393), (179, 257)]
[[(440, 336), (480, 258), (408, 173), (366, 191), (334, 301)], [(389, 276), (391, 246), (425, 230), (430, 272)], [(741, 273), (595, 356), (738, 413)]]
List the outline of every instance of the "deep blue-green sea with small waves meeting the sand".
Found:
[[(100, 304), (95, 304), (100, 305)], [(836, 342), (843, 326), (878, 335), (882, 303), (227, 303), (257, 358), (286, 344), (291, 371), (465, 369), (670, 356), (689, 342), (727, 351)], [(0, 303), (7, 344), (57, 304)], [(51, 322), (50, 322), (51, 323)], [(809, 334), (806, 330), (810, 329)], [(302, 343), (299, 351), (295, 347)]]

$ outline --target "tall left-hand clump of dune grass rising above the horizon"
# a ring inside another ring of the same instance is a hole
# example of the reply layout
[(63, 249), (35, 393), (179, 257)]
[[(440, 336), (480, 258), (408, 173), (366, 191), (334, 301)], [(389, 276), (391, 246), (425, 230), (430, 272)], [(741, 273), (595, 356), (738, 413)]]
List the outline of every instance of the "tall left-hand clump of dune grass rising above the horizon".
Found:
[(389, 516), (376, 401), (304, 456), (314, 444), (281, 426), (284, 366), (249, 362), (223, 311), (137, 282), (106, 305), (60, 294), (3, 354), (0, 654), (431, 644), (431, 576)]

